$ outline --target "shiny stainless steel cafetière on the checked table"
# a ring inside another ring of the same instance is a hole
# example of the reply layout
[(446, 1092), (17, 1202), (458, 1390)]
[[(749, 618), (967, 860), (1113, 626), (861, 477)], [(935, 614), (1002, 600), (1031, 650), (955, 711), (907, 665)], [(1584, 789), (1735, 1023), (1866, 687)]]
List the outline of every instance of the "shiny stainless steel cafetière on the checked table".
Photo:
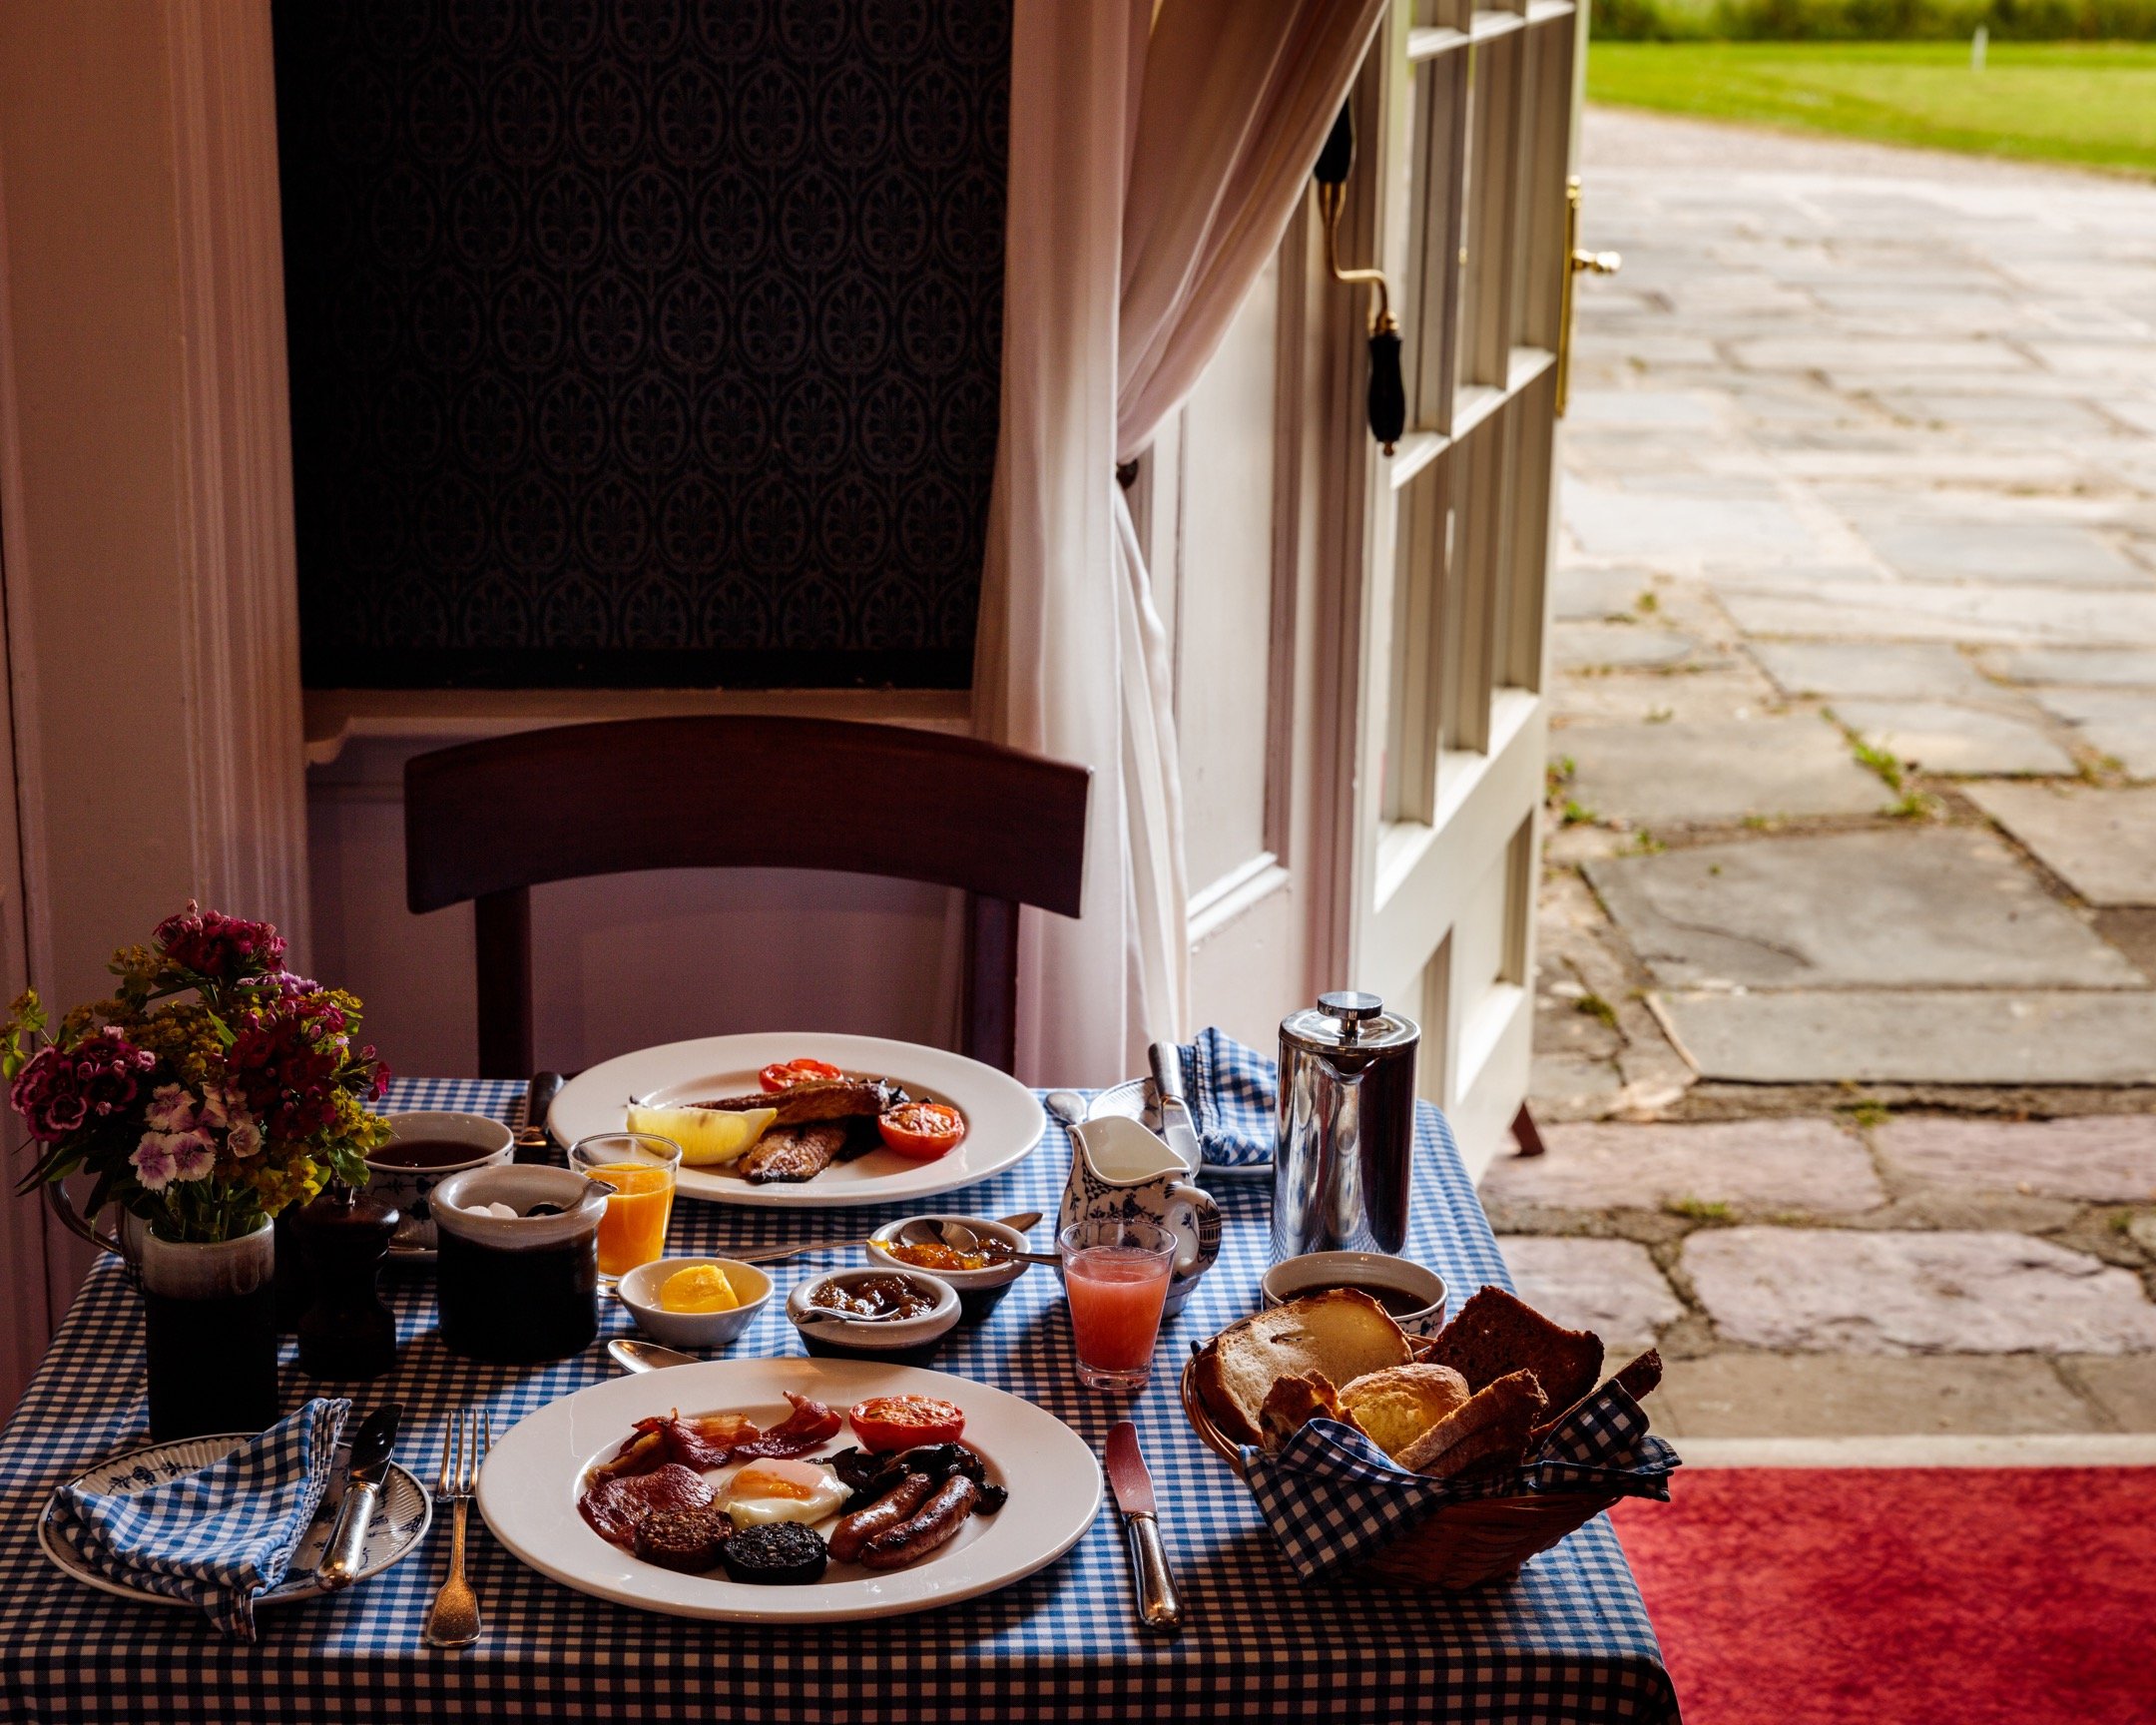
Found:
[(1408, 1244), (1414, 1050), (1423, 1033), (1376, 994), (1319, 994), (1281, 1020), (1272, 1259)]

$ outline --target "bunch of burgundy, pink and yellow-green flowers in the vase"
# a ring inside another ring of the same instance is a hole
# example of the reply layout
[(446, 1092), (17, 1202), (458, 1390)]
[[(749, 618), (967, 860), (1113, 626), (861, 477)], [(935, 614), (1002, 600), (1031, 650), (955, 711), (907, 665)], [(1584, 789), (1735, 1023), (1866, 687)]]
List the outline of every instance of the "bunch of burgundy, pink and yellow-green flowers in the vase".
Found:
[(360, 1003), (285, 968), (285, 938), (194, 901), (112, 955), (119, 994), (47, 1033), (37, 994), (0, 1031), (0, 1076), (37, 1162), (17, 1190), (84, 1171), (164, 1240), (237, 1240), (334, 1175), (367, 1184), (388, 1082), (356, 1046)]

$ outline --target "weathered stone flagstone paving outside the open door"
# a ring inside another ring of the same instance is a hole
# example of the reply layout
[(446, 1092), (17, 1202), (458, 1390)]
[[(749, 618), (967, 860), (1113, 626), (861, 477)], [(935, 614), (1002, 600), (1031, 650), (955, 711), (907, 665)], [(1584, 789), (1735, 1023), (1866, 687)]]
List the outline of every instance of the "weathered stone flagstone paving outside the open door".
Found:
[(2156, 185), (1583, 172), (1507, 1255), (1680, 1438), (2156, 1432)]

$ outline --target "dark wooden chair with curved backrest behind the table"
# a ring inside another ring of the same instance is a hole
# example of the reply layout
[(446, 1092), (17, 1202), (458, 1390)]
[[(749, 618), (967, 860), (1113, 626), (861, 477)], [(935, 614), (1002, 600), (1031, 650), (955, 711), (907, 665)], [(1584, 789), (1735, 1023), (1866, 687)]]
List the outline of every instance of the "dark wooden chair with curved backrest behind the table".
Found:
[(533, 886), (636, 869), (845, 869), (957, 886), (964, 1052), (1009, 1072), (1018, 906), (1078, 914), (1091, 778), (972, 737), (828, 718), (520, 731), (405, 763), (405, 901), (474, 901), (479, 1072), (526, 1078)]

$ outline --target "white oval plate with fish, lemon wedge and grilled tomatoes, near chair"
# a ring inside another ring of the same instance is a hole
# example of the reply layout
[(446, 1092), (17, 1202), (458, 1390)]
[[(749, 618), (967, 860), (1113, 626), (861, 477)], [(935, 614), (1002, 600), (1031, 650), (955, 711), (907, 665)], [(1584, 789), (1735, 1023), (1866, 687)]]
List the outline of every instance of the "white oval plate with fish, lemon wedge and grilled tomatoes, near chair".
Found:
[(1022, 1162), (1048, 1117), (992, 1065), (884, 1037), (699, 1037), (571, 1078), (548, 1130), (563, 1145), (649, 1130), (681, 1145), (686, 1197), (765, 1208), (908, 1203)]

